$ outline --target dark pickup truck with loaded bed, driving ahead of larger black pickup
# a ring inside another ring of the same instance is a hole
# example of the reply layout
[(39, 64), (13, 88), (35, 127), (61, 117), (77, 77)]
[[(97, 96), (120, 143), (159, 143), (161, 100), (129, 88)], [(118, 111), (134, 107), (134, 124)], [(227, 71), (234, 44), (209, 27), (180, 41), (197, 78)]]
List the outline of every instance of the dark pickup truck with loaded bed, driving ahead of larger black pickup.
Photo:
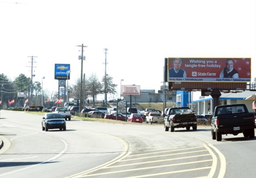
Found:
[(169, 131), (171, 127), (171, 132), (179, 127), (186, 127), (187, 130), (192, 127), (193, 130), (197, 130), (197, 118), (189, 107), (168, 108), (164, 118), (164, 127), (165, 131)]

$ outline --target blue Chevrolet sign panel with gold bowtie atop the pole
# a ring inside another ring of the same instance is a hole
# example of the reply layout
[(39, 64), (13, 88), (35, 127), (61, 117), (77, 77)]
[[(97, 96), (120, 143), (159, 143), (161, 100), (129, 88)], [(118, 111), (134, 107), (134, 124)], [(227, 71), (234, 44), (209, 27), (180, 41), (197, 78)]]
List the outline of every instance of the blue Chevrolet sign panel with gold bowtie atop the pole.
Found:
[(70, 79), (70, 64), (55, 64), (54, 79), (69, 80)]

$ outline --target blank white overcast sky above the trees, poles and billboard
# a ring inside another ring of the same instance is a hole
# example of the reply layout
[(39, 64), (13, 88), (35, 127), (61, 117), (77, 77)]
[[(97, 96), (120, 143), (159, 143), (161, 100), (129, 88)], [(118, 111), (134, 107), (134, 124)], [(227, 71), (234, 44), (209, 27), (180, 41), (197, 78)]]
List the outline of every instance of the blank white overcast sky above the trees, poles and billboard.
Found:
[(165, 57), (251, 57), (256, 65), (255, 0), (0, 0), (0, 24), (0, 73), (31, 77), (34, 56), (33, 81), (45, 77), (48, 91), (58, 91), (55, 64), (70, 64), (69, 85), (80, 78), (82, 44), (83, 73), (101, 81), (106, 67), (114, 98), (120, 84), (160, 90)]

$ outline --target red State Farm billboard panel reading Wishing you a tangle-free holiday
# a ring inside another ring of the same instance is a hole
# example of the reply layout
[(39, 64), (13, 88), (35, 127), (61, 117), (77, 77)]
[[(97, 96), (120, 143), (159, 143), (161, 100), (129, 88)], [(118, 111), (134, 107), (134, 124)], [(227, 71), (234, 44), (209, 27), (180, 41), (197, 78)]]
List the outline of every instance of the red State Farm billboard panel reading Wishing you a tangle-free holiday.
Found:
[(251, 58), (167, 58), (167, 82), (250, 82)]

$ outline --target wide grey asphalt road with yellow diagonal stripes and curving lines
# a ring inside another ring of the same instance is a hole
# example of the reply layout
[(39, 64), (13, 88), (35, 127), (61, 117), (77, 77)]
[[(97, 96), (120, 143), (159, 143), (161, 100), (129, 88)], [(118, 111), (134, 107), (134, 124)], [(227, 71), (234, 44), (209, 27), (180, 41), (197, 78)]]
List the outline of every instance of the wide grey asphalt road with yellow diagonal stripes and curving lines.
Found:
[(254, 177), (256, 139), (211, 139), (210, 128), (73, 119), (41, 130), (40, 115), (1, 110), (0, 178)]

